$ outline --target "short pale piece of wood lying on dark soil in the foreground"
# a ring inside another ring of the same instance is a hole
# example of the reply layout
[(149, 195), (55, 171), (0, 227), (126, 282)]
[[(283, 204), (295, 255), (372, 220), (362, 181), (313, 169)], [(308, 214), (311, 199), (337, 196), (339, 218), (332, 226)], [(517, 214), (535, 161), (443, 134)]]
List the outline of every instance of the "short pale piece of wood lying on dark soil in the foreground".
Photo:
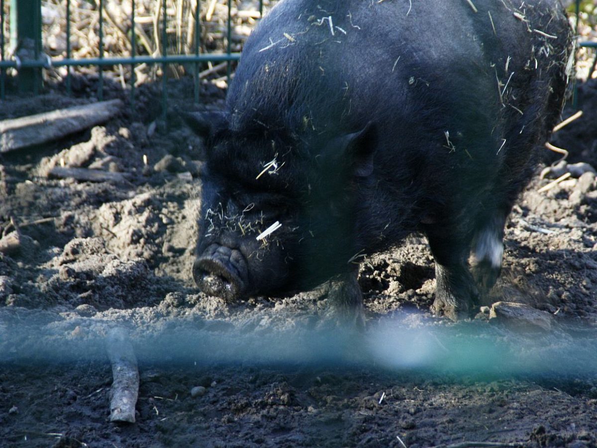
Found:
[(139, 395), (139, 369), (126, 330), (115, 328), (108, 332), (106, 351), (112, 363), (113, 377), (110, 389), (110, 422), (134, 423)]

